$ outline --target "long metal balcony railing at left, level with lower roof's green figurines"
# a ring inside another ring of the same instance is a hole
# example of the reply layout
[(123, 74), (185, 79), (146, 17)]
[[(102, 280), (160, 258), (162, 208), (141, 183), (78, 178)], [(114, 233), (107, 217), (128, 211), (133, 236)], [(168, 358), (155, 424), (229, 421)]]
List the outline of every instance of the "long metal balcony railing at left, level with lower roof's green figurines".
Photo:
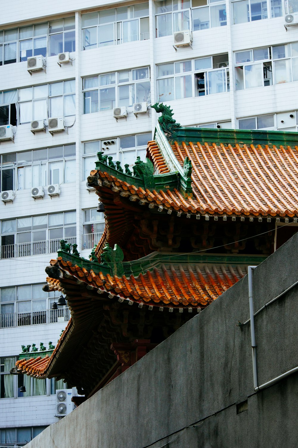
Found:
[[(53, 254), (60, 248), (60, 239), (32, 241), (1, 246), (0, 258), (28, 257), (29, 255)], [(76, 237), (64, 238), (68, 243), (76, 243)]]

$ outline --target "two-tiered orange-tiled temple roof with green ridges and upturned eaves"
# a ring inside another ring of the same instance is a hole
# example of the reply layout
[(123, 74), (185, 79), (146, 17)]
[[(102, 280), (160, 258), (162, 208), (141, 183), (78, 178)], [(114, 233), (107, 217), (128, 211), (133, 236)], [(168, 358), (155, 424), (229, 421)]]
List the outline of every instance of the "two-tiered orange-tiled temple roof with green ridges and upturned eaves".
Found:
[(19, 372), (92, 395), (272, 253), (275, 219), (297, 222), (297, 133), (182, 128), (155, 109), (145, 163), (124, 172), (98, 154), (88, 183), (105, 231), (90, 260), (50, 261), (45, 290), (67, 294), (72, 317), (51, 357)]

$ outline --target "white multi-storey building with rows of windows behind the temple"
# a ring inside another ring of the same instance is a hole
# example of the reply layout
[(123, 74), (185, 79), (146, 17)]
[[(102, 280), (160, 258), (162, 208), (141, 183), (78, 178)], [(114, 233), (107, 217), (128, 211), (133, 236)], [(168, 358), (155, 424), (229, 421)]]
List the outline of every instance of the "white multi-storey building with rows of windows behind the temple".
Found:
[[(23, 375), (8, 371), (21, 345), (55, 345), (69, 319), (66, 307), (50, 310), (44, 270), (61, 238), (85, 258), (99, 241), (103, 215), (86, 186), (97, 151), (123, 168), (144, 157), (157, 101), (182, 125), (296, 131), (291, 20), (297, 0), (15, 0), (2, 9), (1, 446), (22, 446), (57, 421), (55, 381), (27, 377), (22, 393)], [(69, 61), (59, 65), (59, 53)], [(41, 70), (29, 73), (32, 56)]]

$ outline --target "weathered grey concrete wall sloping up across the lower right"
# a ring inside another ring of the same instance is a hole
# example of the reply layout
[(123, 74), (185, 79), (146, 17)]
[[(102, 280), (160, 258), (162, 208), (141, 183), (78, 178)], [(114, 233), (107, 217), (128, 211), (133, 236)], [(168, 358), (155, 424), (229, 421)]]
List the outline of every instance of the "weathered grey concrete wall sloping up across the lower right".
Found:
[[(298, 281), (297, 259), (298, 234), (256, 268), (255, 311)], [(259, 384), (298, 366), (297, 292), (255, 318)], [(297, 447), (298, 375), (254, 392), (248, 318), (246, 276), (26, 447)]]

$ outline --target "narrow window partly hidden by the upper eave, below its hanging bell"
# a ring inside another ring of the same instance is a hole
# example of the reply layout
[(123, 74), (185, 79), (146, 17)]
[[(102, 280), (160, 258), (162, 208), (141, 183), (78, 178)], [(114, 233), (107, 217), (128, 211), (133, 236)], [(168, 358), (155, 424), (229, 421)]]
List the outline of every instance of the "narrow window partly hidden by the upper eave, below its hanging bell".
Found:
[(104, 214), (98, 213), (96, 208), (84, 210), (82, 249), (92, 249), (94, 245), (97, 245), (104, 230)]

